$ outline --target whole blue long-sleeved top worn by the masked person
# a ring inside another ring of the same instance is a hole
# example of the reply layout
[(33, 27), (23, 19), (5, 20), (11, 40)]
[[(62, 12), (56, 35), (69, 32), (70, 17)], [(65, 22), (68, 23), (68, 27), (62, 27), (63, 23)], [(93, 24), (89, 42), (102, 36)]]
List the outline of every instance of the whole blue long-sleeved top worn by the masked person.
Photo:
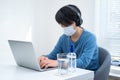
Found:
[(70, 45), (74, 46), (74, 52), (77, 55), (77, 67), (96, 71), (98, 63), (98, 46), (96, 37), (89, 31), (83, 29), (83, 32), (76, 42), (73, 42), (68, 36), (62, 35), (53, 51), (48, 55), (49, 59), (57, 59), (57, 53), (69, 53)]

